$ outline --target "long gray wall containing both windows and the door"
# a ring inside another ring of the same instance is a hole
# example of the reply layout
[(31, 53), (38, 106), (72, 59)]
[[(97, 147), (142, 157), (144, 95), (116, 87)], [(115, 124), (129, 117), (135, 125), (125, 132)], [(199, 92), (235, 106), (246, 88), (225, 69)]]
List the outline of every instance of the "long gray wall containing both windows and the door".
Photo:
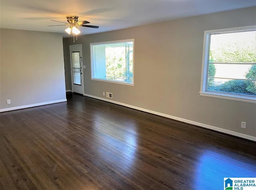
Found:
[[(85, 94), (105, 98), (102, 92), (112, 92), (112, 100), (117, 102), (256, 136), (256, 104), (203, 97), (198, 93), (204, 31), (255, 25), (255, 18), (255, 7), (219, 12), (78, 36), (75, 43), (73, 38), (66, 38), (64, 50), (69, 44), (82, 44)], [(132, 38), (134, 86), (91, 80), (90, 43)], [(68, 51), (64, 54), (68, 57)], [(70, 68), (66, 74), (69, 71)], [(246, 129), (240, 127), (241, 121), (246, 122)]]

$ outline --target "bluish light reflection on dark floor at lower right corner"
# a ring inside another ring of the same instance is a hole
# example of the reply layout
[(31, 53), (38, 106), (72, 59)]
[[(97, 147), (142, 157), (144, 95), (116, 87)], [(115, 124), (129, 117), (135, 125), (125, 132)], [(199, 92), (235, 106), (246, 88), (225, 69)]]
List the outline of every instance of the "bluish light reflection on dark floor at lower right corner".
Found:
[[(196, 189), (223, 189), (224, 178), (256, 177), (256, 162), (248, 164), (210, 150), (200, 158)], [(218, 184), (218, 186), (211, 186)]]

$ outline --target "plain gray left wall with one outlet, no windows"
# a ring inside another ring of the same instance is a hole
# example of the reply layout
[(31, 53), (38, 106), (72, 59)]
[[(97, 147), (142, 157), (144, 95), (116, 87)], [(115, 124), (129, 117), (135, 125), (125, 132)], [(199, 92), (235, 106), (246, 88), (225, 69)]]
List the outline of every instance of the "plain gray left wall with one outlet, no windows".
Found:
[(0, 34), (0, 109), (66, 99), (62, 34)]

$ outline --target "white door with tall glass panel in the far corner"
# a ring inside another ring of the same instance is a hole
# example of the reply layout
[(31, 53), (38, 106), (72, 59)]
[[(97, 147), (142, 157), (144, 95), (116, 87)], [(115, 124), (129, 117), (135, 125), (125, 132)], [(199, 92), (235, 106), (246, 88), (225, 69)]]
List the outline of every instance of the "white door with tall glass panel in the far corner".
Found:
[(70, 45), (72, 91), (84, 95), (82, 44)]

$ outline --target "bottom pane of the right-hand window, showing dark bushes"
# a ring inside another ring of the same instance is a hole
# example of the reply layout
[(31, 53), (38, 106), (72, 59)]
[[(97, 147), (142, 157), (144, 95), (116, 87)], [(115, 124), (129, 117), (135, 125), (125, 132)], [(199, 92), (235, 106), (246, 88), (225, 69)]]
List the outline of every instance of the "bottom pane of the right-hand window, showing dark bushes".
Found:
[(208, 78), (207, 90), (234, 94), (256, 95), (256, 82)]

